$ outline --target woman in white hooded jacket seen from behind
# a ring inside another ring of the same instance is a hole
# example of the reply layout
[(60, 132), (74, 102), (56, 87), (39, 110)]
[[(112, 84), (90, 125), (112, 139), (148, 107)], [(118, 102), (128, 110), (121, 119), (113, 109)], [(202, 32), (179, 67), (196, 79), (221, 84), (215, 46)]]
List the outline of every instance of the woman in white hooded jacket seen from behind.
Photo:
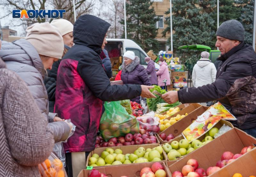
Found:
[(209, 52), (203, 51), (201, 59), (196, 62), (193, 68), (192, 81), (194, 87), (201, 87), (215, 82), (217, 70), (211, 60), (209, 60), (209, 56)]

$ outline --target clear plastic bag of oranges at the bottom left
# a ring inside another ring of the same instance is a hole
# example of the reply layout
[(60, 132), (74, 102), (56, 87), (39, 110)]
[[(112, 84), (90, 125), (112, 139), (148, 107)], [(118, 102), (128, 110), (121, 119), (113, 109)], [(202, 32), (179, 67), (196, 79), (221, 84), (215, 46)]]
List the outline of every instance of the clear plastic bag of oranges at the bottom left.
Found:
[(38, 165), (42, 177), (67, 177), (61, 160), (54, 154)]

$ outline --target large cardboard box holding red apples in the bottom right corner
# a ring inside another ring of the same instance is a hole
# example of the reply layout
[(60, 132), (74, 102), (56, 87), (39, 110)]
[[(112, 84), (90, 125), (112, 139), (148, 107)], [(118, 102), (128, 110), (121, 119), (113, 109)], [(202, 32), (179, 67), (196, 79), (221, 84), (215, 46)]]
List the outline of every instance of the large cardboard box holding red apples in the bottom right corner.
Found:
[[(186, 165), (187, 161), (191, 158), (196, 159), (199, 167), (207, 170), (210, 166), (215, 166), (217, 161), (220, 160), (221, 155), (225, 151), (230, 151), (233, 154), (239, 154), (243, 147), (253, 146), (256, 144), (256, 138), (248, 135), (247, 133), (233, 128), (215, 138), (208, 144), (198, 148), (196, 151), (184, 156), (182, 159), (173, 163), (168, 168), (170, 172), (181, 171), (182, 167)], [(241, 173), (244, 177), (255, 175), (256, 172), (256, 148), (245, 153), (233, 162), (227, 164), (219, 171), (215, 172), (210, 177), (232, 177), (234, 173)], [(208, 176), (208, 177), (209, 177)]]

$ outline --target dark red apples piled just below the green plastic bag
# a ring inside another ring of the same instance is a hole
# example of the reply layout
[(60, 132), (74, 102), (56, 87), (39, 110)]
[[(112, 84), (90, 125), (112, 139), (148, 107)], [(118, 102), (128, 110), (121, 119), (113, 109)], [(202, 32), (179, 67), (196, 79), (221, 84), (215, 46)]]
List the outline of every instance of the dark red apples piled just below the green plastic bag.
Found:
[(140, 132), (141, 133), (135, 133), (134, 135), (128, 133), (125, 136), (120, 136), (118, 138), (110, 138), (107, 142), (103, 141), (103, 138), (97, 137), (95, 147), (113, 147), (157, 143), (157, 138), (154, 135), (150, 135), (144, 129), (142, 129)]

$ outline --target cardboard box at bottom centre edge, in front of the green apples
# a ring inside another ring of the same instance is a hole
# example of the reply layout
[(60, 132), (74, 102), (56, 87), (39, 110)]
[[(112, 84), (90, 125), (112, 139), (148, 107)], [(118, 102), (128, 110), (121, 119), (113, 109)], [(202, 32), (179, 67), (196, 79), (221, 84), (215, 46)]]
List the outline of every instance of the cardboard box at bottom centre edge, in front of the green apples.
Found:
[[(149, 163), (132, 163), (132, 164), (126, 164), (121, 166), (104, 166), (99, 167), (97, 170), (99, 170), (101, 173), (104, 173), (108, 177), (120, 177), (120, 176), (128, 176), (128, 177), (139, 177), (140, 171), (144, 167), (150, 167), (155, 162), (149, 162)], [(162, 166), (164, 166), (164, 171), (167, 173), (167, 177), (171, 177), (170, 171), (165, 165), (164, 162), (160, 162)], [(77, 177), (88, 177), (88, 172), (90, 170), (83, 169)]]

